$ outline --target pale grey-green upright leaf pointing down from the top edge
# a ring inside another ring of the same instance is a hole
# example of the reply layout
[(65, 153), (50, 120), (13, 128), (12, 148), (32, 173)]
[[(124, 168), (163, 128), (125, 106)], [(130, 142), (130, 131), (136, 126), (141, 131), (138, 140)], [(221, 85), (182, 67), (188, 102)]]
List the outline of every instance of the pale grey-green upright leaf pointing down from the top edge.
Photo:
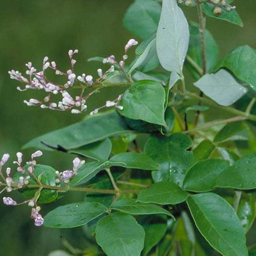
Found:
[(156, 32), (156, 50), (164, 69), (181, 75), (188, 42), (188, 23), (177, 1), (163, 0)]

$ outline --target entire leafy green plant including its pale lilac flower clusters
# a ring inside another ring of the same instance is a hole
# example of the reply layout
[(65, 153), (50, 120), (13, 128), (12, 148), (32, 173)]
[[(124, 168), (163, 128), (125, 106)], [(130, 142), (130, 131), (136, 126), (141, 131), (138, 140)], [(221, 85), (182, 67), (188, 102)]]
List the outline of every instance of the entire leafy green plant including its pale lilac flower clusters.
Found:
[[(71, 169), (57, 171), (38, 164), (41, 151), (22, 164), (18, 152), (17, 172), (12, 176), (9, 167), (3, 171), (9, 158), (4, 154), (1, 192), (19, 189), (25, 197), (21, 203), (3, 197), (4, 204), (27, 203), (36, 226), (81, 226), (96, 248), (91, 255), (253, 253), (248, 251), (245, 233), (256, 212), (256, 115), (251, 113), (256, 101), (255, 50), (240, 46), (218, 62), (218, 46), (205, 29), (206, 16), (242, 26), (230, 4), (230, 0), (135, 0), (123, 23), (143, 41), (130, 64), (127, 54), (137, 45), (135, 39), (127, 42), (120, 61), (113, 55), (91, 58), (111, 65), (104, 74), (98, 69), (96, 80), (74, 73), (73, 56), (78, 50), (69, 50), (67, 72), (47, 57), (39, 72), (27, 63), (30, 78), (11, 70), (11, 78), (26, 84), (18, 90), (48, 93), (43, 100), (25, 101), (41, 108), (81, 113), (88, 97), (102, 88), (116, 86), (123, 92), (92, 111), (93, 116), (23, 146), (75, 154)], [(197, 7), (198, 24), (188, 23), (181, 8), (185, 6)], [(192, 87), (196, 92), (187, 90), (184, 66), (196, 79)], [(48, 82), (48, 68), (67, 77), (67, 82), (63, 86)], [(81, 89), (80, 96), (67, 92), (73, 88)], [(56, 104), (49, 95), (58, 94), (62, 100)], [(247, 105), (245, 111), (235, 104), (238, 100)], [(111, 106), (115, 109), (97, 113)], [(206, 122), (205, 113), (212, 109), (231, 116)], [(85, 192), (84, 201), (56, 207), (44, 217), (39, 213), (39, 204), (70, 191)]]

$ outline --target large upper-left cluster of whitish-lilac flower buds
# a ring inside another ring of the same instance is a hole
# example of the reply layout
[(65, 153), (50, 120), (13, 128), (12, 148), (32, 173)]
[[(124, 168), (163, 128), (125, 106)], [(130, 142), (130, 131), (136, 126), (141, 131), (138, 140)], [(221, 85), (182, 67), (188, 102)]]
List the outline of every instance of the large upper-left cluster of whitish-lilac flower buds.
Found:
[[(40, 106), (41, 108), (53, 109), (58, 111), (67, 111), (70, 110), (73, 114), (82, 113), (87, 110), (86, 101), (87, 99), (96, 93), (100, 87), (103, 85), (104, 80), (115, 71), (115, 67), (124, 72), (124, 62), (128, 58), (127, 51), (133, 45), (136, 45), (138, 42), (134, 39), (130, 39), (124, 47), (124, 55), (122, 60), (116, 61), (114, 55), (110, 55), (102, 60), (103, 63), (109, 63), (111, 66), (106, 71), (103, 72), (101, 68), (97, 69), (98, 77), (93, 79), (93, 76), (90, 74), (82, 73), (81, 75), (76, 75), (74, 72), (74, 65), (76, 59), (74, 58), (75, 54), (78, 53), (78, 50), (70, 49), (68, 51), (68, 58), (70, 60), (70, 69), (67, 71), (62, 71), (57, 66), (55, 61), (49, 61), (49, 58), (46, 56), (42, 61), (41, 70), (37, 70), (31, 62), (26, 63), (26, 75), (23, 76), (19, 71), (10, 70), (8, 71), (10, 78), (15, 79), (25, 86), (21, 88), (17, 86), (19, 91), (25, 91), (28, 89), (32, 90), (43, 90), (47, 93), (43, 99), (30, 98), (29, 100), (24, 100), (24, 103), (28, 106)], [(66, 82), (62, 85), (56, 84), (54, 81), (50, 81), (46, 77), (46, 70), (52, 69), (56, 75), (64, 76)], [(74, 84), (77, 84), (78, 88), (81, 89), (81, 92), (78, 95), (72, 96), (68, 90), (71, 87), (74, 87)], [(94, 90), (87, 92), (87, 89), (94, 88)], [(60, 95), (60, 99), (57, 102), (54, 102), (53, 96)], [(122, 106), (119, 105), (121, 96), (114, 100), (107, 100), (106, 103), (91, 111), (91, 115), (97, 113), (99, 109), (104, 107), (115, 106), (116, 108), (122, 109)]]

